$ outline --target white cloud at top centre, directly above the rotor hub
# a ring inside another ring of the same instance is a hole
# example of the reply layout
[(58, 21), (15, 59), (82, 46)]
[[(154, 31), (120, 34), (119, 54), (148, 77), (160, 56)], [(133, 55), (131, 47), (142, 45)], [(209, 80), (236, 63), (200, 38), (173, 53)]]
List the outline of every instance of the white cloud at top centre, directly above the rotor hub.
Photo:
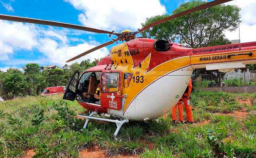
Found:
[(166, 9), (159, 0), (64, 0), (83, 11), (78, 20), (87, 27), (136, 31), (147, 17), (162, 15)]

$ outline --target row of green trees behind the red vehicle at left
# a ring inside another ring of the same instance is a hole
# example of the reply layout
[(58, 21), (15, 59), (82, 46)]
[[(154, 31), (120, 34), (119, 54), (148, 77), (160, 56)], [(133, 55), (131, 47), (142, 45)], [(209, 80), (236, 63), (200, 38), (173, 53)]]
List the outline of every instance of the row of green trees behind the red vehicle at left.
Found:
[(72, 74), (95, 66), (95, 61), (89, 59), (81, 63), (64, 65), (62, 69), (44, 69), (43, 66), (31, 63), (18, 69), (0, 71), (0, 96), (5, 99), (12, 99), (15, 96), (38, 95), (45, 87), (65, 86), (68, 84)]

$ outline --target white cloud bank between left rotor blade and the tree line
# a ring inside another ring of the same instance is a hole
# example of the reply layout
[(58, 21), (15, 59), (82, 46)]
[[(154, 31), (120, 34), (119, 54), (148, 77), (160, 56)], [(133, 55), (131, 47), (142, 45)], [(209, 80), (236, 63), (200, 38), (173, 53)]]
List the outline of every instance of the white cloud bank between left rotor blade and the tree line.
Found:
[[(75, 55), (99, 45), (93, 40), (85, 42), (82, 39), (71, 37), (71, 41), (82, 41), (83, 44), (70, 46), (68, 35), (74, 34), (79, 34), (79, 32), (0, 20), (0, 61), (10, 67), (25, 65), (26, 63), (39, 63), (41, 65), (51, 63), (63, 66), (67, 60)], [(14, 52), (32, 51), (32, 49), (38, 49), (44, 56), (38, 57), (40, 60), (33, 61), (13, 58)], [(94, 58), (104, 57), (107, 54), (107, 48), (102, 48), (74, 62), (81, 62), (87, 58), (93, 61)]]

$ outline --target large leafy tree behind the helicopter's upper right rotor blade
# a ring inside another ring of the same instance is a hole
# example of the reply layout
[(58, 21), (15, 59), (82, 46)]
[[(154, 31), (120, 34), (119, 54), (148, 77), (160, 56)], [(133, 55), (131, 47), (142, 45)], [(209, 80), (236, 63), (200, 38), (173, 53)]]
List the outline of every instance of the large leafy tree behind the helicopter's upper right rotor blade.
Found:
[[(204, 1), (191, 1), (181, 4), (172, 14), (204, 4)], [(217, 5), (203, 9), (163, 24), (154, 26), (144, 33), (144, 36), (156, 39), (164, 39), (169, 42), (175, 40), (186, 43), (191, 48), (206, 47), (213, 44), (221, 44), (225, 40), (224, 31), (233, 31), (238, 27), (240, 21), (237, 6)], [(142, 26), (149, 25), (169, 15), (157, 15), (147, 18)]]

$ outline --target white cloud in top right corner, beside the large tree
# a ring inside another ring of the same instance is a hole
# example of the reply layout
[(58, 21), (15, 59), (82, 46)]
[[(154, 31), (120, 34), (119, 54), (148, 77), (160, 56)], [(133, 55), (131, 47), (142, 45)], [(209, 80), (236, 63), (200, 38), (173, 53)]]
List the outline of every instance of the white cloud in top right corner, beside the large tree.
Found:
[[(240, 24), (240, 38), (241, 42), (252, 42), (256, 41), (256, 1), (255, 0), (234, 0), (228, 2), (229, 5), (237, 5), (241, 8), (241, 20)], [(226, 32), (226, 37), (229, 40), (239, 39), (238, 29), (233, 32)]]

